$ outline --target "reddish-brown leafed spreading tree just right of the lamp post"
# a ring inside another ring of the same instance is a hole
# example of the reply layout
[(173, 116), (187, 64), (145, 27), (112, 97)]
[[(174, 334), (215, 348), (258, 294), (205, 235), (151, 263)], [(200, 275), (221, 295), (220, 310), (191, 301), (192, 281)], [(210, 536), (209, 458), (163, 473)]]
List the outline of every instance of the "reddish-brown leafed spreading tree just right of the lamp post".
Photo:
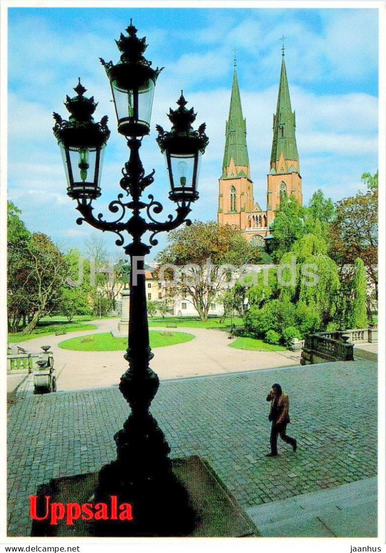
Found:
[[(195, 221), (176, 229), (168, 241), (169, 246), (156, 259), (161, 265), (174, 266), (174, 293), (189, 298), (203, 321), (219, 291), (230, 285), (230, 269), (225, 265), (241, 267), (255, 262), (260, 255), (236, 227), (213, 221)], [(160, 276), (166, 273), (161, 270)]]

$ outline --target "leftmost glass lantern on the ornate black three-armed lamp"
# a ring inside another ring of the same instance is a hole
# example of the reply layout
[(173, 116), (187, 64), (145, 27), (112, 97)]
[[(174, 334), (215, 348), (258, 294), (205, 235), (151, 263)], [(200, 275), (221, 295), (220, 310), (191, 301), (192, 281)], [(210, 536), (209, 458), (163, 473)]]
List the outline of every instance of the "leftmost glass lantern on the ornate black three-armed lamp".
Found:
[(65, 106), (69, 120), (54, 113), (53, 128), (60, 147), (67, 179), (67, 194), (76, 200), (87, 202), (101, 195), (103, 153), (110, 135), (107, 116), (96, 123), (92, 117), (97, 104), (93, 96), (86, 98), (86, 88), (80, 79), (74, 88), (74, 98), (66, 97)]

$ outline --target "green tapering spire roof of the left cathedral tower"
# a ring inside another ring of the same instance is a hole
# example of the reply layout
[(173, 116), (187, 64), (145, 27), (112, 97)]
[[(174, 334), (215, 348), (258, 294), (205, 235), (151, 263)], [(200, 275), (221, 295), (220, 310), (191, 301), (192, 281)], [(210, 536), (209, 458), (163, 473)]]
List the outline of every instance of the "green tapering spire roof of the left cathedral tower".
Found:
[(225, 152), (223, 169), (229, 167), (233, 158), (234, 165), (249, 165), (247, 150), (247, 126), (241, 109), (240, 91), (237, 82), (236, 64), (234, 65), (231, 105), (226, 122)]

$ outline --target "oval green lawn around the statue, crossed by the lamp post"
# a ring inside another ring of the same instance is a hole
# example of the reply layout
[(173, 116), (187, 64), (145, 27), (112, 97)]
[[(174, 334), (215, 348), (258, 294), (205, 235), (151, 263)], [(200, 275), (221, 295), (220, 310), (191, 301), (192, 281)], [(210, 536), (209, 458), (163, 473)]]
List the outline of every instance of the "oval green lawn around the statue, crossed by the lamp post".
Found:
[[(174, 344), (189, 342), (194, 338), (192, 334), (185, 332), (160, 332), (157, 330), (151, 330), (149, 336), (152, 348), (174, 346)], [(92, 338), (92, 340), (82, 342), (85, 338)], [(111, 333), (102, 332), (65, 340), (59, 343), (59, 347), (76, 351), (124, 351), (127, 348), (127, 338), (114, 338)]]

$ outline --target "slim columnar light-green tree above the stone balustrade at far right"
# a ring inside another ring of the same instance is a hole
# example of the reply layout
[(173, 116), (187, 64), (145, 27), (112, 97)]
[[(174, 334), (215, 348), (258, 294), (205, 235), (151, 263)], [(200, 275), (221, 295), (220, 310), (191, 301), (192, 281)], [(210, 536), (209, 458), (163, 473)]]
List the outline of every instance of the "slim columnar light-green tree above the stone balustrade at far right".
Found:
[(366, 280), (364, 263), (362, 259), (357, 258), (354, 263), (351, 297), (347, 303), (347, 328), (367, 328)]

